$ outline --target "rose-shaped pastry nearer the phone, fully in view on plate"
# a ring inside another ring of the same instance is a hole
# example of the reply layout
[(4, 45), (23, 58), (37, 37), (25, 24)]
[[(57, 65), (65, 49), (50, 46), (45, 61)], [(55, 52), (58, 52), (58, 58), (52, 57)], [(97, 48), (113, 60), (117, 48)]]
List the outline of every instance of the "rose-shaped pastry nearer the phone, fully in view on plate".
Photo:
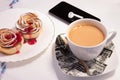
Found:
[(36, 14), (28, 12), (20, 16), (16, 28), (22, 33), (24, 39), (34, 39), (40, 34), (41, 21)]

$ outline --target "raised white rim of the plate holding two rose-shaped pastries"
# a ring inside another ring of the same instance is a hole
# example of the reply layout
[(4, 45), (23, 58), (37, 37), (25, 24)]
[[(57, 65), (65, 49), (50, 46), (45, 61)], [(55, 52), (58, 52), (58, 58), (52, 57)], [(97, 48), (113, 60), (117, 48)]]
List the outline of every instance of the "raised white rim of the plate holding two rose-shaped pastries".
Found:
[[(35, 56), (37, 56), (37, 55), (39, 55), (39, 54), (43, 54), (43, 52), (50, 46), (50, 44), (51, 44), (52, 41), (53, 41), (53, 38), (55, 37), (55, 25), (54, 25), (54, 22), (52, 21), (52, 19), (51, 19), (48, 15), (45, 15), (44, 13), (42, 13), (42, 12), (40, 12), (40, 11), (38, 11), (38, 10), (28, 9), (28, 8), (13, 8), (13, 9), (8, 9), (8, 10), (5, 10), (5, 11), (2, 11), (2, 12), (0, 12), (0, 14), (1, 14), (1, 13), (5, 13), (5, 12), (9, 12), (9, 11), (15, 11), (15, 10), (25, 10), (25, 12), (26, 12), (27, 10), (28, 10), (28, 11), (30, 10), (30, 11), (33, 11), (33, 12), (40, 13), (40, 15), (44, 15), (44, 17), (46, 17), (47, 20), (49, 20), (49, 22), (51, 22), (50, 25), (52, 26), (52, 29), (53, 29), (52, 32), (53, 32), (53, 33), (52, 33), (51, 39), (50, 39), (49, 43), (46, 45), (46, 47), (43, 48), (43, 50), (41, 50), (40, 52), (36, 53), (35, 55), (29, 56), (29, 57), (24, 57), (23, 59), (19, 58), (19, 59), (17, 59), (17, 60), (13, 60), (13, 59), (10, 59), (10, 60), (8, 60), (8, 59), (7, 59), (7, 60), (5, 60), (5, 59), (0, 59), (0, 62), (19, 62), (19, 61), (24, 61), (24, 60), (33, 58), (33, 57), (35, 57)], [(0, 54), (2, 54), (2, 53), (0, 53)], [(3, 55), (4, 55), (4, 54), (3, 54)], [(5, 55), (6, 55), (6, 54), (5, 54)]]

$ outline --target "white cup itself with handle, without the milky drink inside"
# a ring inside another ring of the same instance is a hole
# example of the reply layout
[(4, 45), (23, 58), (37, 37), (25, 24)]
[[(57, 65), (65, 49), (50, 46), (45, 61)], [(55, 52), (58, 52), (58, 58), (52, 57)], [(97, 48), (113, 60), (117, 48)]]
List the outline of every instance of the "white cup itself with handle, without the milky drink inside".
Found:
[[(93, 46), (81, 46), (81, 45), (78, 45), (78, 44), (74, 43), (73, 41), (71, 41), (71, 39), (69, 38), (70, 30), (73, 27), (75, 27), (74, 25), (81, 24), (81, 23), (82, 24), (84, 24), (84, 23), (92, 24), (92, 25), (96, 26), (97, 28), (99, 28), (105, 36), (104, 40), (102, 42), (100, 42), (99, 44), (96, 44)], [(107, 43), (111, 42), (111, 40), (116, 35), (116, 31), (108, 32), (106, 27), (101, 22), (99, 22), (97, 20), (93, 20), (93, 19), (79, 19), (79, 20), (72, 22), (68, 27), (69, 28), (66, 33), (68, 45), (69, 45), (71, 51), (73, 52), (73, 54), (81, 60), (91, 60), (91, 59), (96, 58), (101, 53), (104, 46)]]

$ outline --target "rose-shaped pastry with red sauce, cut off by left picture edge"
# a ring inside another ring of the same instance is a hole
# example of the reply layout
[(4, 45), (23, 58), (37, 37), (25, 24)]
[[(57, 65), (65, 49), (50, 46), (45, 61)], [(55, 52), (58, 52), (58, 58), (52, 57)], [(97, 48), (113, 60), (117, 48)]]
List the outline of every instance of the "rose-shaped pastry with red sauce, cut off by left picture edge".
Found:
[(5, 54), (15, 54), (19, 52), (23, 37), (17, 31), (12, 29), (0, 29), (0, 52)]

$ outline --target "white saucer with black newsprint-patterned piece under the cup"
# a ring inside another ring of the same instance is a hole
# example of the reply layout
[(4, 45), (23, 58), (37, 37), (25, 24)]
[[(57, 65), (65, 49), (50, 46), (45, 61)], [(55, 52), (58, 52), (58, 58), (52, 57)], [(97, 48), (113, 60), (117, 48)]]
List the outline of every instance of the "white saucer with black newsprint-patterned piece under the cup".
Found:
[(75, 77), (104, 75), (116, 69), (118, 64), (113, 42), (106, 45), (97, 58), (83, 61), (73, 55), (64, 34), (60, 34), (56, 38), (55, 58), (60, 70), (64, 74)]

